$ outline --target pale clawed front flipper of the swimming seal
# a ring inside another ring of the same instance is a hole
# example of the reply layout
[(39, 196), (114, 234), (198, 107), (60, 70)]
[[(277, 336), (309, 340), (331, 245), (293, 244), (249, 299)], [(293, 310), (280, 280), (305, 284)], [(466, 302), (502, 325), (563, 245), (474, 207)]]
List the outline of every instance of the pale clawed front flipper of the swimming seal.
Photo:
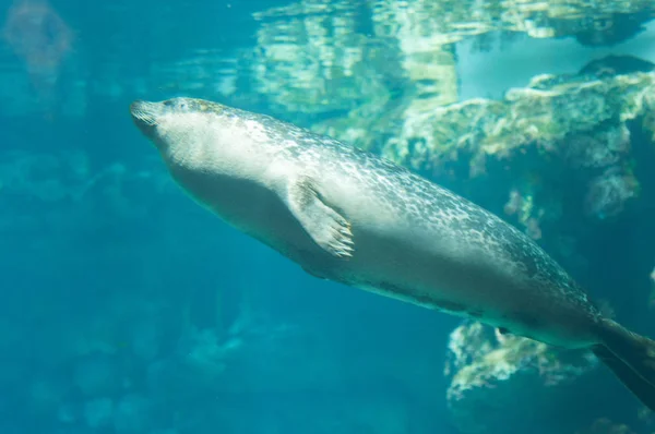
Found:
[(353, 256), (350, 224), (323, 202), (320, 189), (311, 178), (300, 177), (291, 181), (286, 193), (289, 210), (317, 244), (333, 256)]

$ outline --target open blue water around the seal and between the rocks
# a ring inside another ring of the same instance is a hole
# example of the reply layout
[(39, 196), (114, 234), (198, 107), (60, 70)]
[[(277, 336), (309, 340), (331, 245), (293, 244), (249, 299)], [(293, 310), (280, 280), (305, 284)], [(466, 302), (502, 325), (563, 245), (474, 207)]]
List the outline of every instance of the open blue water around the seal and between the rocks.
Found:
[[(284, 113), (247, 72), (263, 25), (253, 13), (288, 3), (0, 1), (0, 433), (464, 432), (444, 375), (460, 320), (305, 274), (193, 203), (131, 122), (133, 99), (181, 95), (303, 126), (331, 116)], [(366, 11), (355, 11), (366, 34)], [(655, 61), (643, 48), (651, 27), (624, 51)], [(552, 44), (561, 59), (543, 68), (525, 53), (552, 57), (553, 46), (468, 53), (462, 45), (461, 98), (500, 97), (594, 57), (570, 39)], [(484, 82), (476, 71), (501, 53), (503, 64), (485, 77), (499, 79)], [(652, 162), (651, 138), (636, 130), (632, 137), (633, 158)], [(552, 239), (540, 242), (626, 323), (653, 335), (650, 165), (636, 166), (641, 195), (618, 217), (586, 231), (561, 218), (575, 258)], [(461, 192), (502, 213), (503, 182)], [(654, 430), (653, 415), (640, 417), (608, 372), (594, 375), (607, 385), (597, 391), (605, 406), (550, 402), (548, 414), (562, 420), (549, 419), (545, 432), (596, 424), (584, 432), (628, 433), (609, 431), (597, 422), (604, 417), (614, 430)], [(594, 384), (575, 387), (594, 395)], [(498, 434), (545, 423), (543, 400), (525, 389), (516, 396), (516, 409), (495, 409), (486, 395), (467, 418)], [(509, 419), (491, 423), (489, 414)]]

